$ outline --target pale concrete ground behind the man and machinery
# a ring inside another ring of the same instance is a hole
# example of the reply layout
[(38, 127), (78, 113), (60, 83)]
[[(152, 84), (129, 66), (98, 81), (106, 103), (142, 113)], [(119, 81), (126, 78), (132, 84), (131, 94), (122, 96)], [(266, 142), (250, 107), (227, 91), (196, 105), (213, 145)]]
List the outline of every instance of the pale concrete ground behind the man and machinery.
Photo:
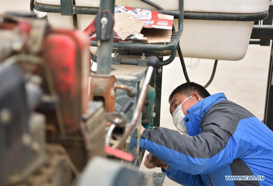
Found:
[[(29, 0), (0, 0), (0, 12), (15, 10), (29, 11)], [(40, 13), (43, 15), (43, 13)], [(240, 61), (218, 61), (213, 82), (207, 88), (210, 94), (223, 92), (227, 99), (233, 101), (249, 111), (260, 120), (263, 119), (266, 83), (270, 47), (249, 45), (246, 56)], [(193, 59), (193, 63), (197, 59)], [(185, 58), (189, 65), (191, 58)], [(195, 69), (187, 67), (189, 79), (205, 85), (210, 79), (214, 60), (201, 59)], [(160, 126), (176, 130), (169, 114), (168, 97), (173, 89), (186, 82), (179, 58), (163, 67), (162, 101)], [(147, 154), (148, 152), (146, 152)], [(145, 154), (145, 156), (146, 156)], [(161, 172), (159, 168), (147, 169), (143, 162), (140, 170)], [(169, 178), (165, 178), (163, 185), (179, 185)]]

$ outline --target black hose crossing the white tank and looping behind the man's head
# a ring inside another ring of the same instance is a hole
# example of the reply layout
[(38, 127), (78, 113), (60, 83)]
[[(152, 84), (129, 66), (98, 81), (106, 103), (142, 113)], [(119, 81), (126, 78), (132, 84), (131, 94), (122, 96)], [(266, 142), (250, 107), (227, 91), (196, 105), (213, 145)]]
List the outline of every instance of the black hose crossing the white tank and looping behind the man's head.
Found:
[[(140, 1), (145, 2), (146, 4), (148, 4), (150, 6), (153, 6), (154, 8), (156, 8), (158, 10), (164, 10), (161, 6), (155, 4), (154, 2), (151, 2), (149, 0), (140, 0)], [(174, 28), (173, 25), (172, 25), (172, 30), (175, 31), (175, 28)], [(179, 59), (180, 59), (180, 63), (181, 63), (182, 69), (183, 69), (183, 73), (184, 73), (185, 79), (186, 79), (187, 82), (191, 82), (189, 80), (189, 75), (188, 75), (188, 72), (186, 70), (186, 65), (185, 65), (185, 61), (184, 61), (184, 58), (183, 58), (183, 55), (182, 55), (182, 51), (181, 51), (179, 42), (178, 42), (177, 52), (178, 52), (178, 55), (179, 55)], [(210, 85), (210, 83), (212, 82), (212, 80), (214, 78), (214, 75), (215, 75), (215, 72), (216, 72), (217, 63), (218, 63), (218, 60), (215, 60), (214, 61), (214, 66), (213, 66), (213, 70), (212, 70), (212, 74), (210, 76), (210, 80), (206, 83), (206, 85), (204, 86), (204, 88), (208, 87)]]

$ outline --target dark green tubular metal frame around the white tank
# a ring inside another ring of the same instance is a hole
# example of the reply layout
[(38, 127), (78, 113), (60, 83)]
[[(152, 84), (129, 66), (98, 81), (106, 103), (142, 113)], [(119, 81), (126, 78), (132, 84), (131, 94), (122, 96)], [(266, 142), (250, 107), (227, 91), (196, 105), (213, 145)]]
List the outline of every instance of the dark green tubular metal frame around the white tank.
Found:
[[(62, 0), (67, 1), (67, 0)], [(72, 0), (71, 0), (72, 1)], [(111, 2), (111, 3), (109, 3)], [(218, 21), (258, 21), (266, 19), (268, 16), (268, 11), (259, 13), (219, 13), (219, 12), (184, 12), (183, 11), (183, 0), (179, 0), (179, 10), (178, 11), (166, 11), (166, 10), (156, 10), (158, 12), (173, 15), (175, 18), (179, 19), (178, 31), (176, 37), (171, 43), (166, 45), (161, 44), (138, 44), (138, 43), (113, 43), (113, 48), (125, 48), (125, 49), (138, 49), (146, 51), (168, 51), (171, 50), (171, 56), (169, 59), (162, 61), (160, 65), (168, 65), (173, 61), (176, 56), (176, 49), (179, 44), (179, 39), (183, 32), (183, 19), (196, 19), (196, 20), (218, 20)], [(112, 4), (114, 1), (101, 1), (100, 6), (104, 6), (103, 9), (108, 9), (113, 12)], [(40, 12), (53, 12), (61, 13), (62, 7), (59, 5), (46, 5), (41, 3), (34, 3), (34, 9)], [(71, 9), (71, 7), (70, 7)], [(95, 15), (99, 11), (99, 8), (94, 7), (80, 7), (73, 5), (73, 12), (70, 14), (86, 14)], [(97, 41), (90, 41), (91, 46), (98, 46)], [(108, 51), (108, 50), (107, 50)], [(104, 52), (105, 53), (105, 52)], [(138, 64), (138, 61), (122, 59), (122, 61), (115, 60), (115, 64)], [(108, 70), (107, 70), (108, 72)]]

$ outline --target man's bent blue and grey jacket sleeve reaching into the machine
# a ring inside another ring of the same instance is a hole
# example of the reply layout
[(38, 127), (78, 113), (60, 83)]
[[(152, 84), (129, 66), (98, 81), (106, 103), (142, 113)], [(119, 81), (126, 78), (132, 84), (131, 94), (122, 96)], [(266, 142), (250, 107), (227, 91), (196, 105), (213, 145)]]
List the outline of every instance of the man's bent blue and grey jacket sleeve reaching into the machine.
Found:
[(145, 129), (140, 147), (174, 169), (193, 175), (213, 173), (249, 152), (251, 143), (244, 127), (237, 127), (240, 123), (230, 125), (230, 122), (240, 121), (237, 115), (231, 112), (225, 117), (217, 112), (209, 118), (210, 122), (204, 122), (201, 133), (196, 136), (181, 135), (162, 127)]

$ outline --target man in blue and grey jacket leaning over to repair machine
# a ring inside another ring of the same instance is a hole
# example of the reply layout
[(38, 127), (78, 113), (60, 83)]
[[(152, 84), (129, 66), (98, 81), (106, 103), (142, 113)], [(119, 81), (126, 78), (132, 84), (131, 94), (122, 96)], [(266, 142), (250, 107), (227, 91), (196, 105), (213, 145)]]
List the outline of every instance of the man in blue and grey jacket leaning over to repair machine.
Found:
[[(178, 86), (169, 103), (183, 133), (142, 127), (145, 167), (162, 167), (182, 185), (273, 185), (273, 132), (253, 114), (194, 82)], [(225, 177), (232, 175), (249, 177)]]

